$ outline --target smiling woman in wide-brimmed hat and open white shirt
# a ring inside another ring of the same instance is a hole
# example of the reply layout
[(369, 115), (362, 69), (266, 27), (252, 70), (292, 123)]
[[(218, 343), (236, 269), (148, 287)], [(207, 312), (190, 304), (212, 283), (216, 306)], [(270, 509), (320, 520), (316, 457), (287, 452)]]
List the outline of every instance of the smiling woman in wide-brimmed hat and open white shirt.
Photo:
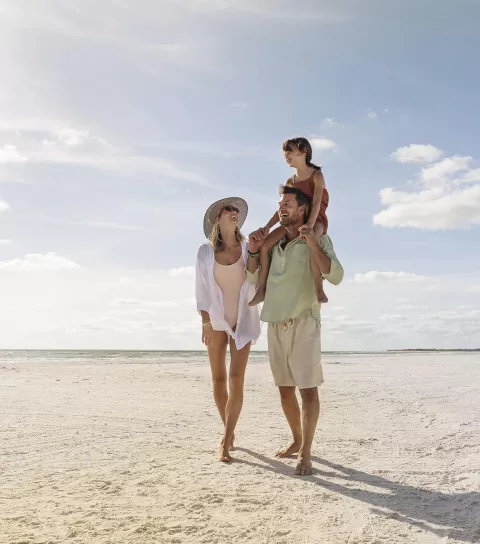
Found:
[[(247, 242), (240, 229), (248, 206), (242, 198), (224, 198), (205, 213), (208, 243), (198, 249), (197, 310), (202, 316), (202, 342), (207, 346), (213, 396), (225, 426), (219, 459), (232, 462), (234, 431), (243, 405), (243, 383), (250, 346), (260, 336), (260, 317), (248, 303), (255, 287), (246, 281)], [(226, 354), (230, 346), (227, 391)]]

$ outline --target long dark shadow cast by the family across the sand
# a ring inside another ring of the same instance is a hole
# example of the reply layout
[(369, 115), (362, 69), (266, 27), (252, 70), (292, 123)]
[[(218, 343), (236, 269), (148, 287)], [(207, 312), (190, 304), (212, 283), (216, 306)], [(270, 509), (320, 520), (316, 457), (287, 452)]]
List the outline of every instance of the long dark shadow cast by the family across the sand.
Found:
[[(374, 507), (372, 513), (378, 516), (403, 521), (440, 538), (480, 543), (480, 492), (442, 493), (403, 485), (320, 457), (313, 457), (313, 462), (325, 469), (319, 469), (317, 466), (314, 467), (315, 473), (312, 476), (295, 476), (290, 465), (246, 448), (236, 449), (264, 464), (236, 459), (238, 463), (309, 481), (345, 497), (370, 504)], [(341, 480), (346, 485), (337, 483), (336, 480)], [(356, 484), (359, 487), (356, 487)], [(378, 491), (364, 489), (364, 486), (377, 488)]]

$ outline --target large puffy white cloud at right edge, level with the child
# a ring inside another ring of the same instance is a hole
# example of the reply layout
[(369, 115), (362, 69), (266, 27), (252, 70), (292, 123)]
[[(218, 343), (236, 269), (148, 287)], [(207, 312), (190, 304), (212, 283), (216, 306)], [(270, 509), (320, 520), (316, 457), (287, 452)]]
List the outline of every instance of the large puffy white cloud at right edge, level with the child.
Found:
[[(373, 216), (373, 223), (388, 228), (426, 230), (479, 225), (480, 169), (470, 168), (472, 160), (469, 156), (454, 155), (422, 168), (417, 192), (382, 189), (380, 200), (385, 208)], [(466, 173), (455, 178), (460, 172)]]

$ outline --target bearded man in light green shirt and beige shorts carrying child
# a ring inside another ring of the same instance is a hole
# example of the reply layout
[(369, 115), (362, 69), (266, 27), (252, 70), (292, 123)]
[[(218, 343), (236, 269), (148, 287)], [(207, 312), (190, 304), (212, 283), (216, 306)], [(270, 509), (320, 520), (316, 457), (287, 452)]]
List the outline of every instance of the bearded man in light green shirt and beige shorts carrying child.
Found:
[[(272, 250), (260, 318), (268, 322), (270, 367), (293, 434), (293, 442), (276, 455), (298, 454), (295, 474), (310, 475), (311, 448), (320, 412), (318, 386), (323, 383), (320, 305), (310, 258), (333, 285), (343, 280), (343, 268), (329, 236), (324, 235), (319, 244), (312, 229), (301, 229), (308, 218), (309, 198), (297, 188), (285, 185), (280, 194), (278, 214), (286, 236)], [(260, 238), (258, 233), (249, 236), (247, 279), (253, 284), (259, 276), (259, 249), (263, 243)], [(296, 387), (302, 397), (301, 417)]]

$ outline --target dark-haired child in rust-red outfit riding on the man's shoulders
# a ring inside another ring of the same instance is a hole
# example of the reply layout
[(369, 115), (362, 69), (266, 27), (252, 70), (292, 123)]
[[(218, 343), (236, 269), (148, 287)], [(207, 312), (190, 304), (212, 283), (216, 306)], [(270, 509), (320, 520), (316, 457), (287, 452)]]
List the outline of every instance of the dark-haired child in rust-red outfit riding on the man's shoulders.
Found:
[[(327, 233), (328, 220), (325, 210), (328, 206), (329, 195), (325, 187), (321, 168), (311, 162), (312, 146), (306, 138), (293, 138), (283, 143), (283, 154), (287, 164), (296, 169), (296, 174), (287, 181), (286, 185), (297, 187), (312, 201), (309, 219), (303, 227), (300, 227), (300, 235), (307, 234), (313, 229), (315, 237), (319, 240), (320, 236)], [(275, 212), (266, 226), (257, 231), (261, 237), (266, 237), (266, 240), (260, 249), (260, 278), (257, 293), (250, 302), (250, 306), (255, 306), (265, 300), (268, 271), (270, 268), (270, 251), (285, 236), (284, 227), (278, 227), (269, 234), (270, 229), (278, 221), (278, 212)], [(318, 268), (313, 266), (313, 263), (311, 263), (311, 266), (317, 290), (317, 299), (319, 302), (328, 302), (328, 298), (323, 290), (323, 277)]]

